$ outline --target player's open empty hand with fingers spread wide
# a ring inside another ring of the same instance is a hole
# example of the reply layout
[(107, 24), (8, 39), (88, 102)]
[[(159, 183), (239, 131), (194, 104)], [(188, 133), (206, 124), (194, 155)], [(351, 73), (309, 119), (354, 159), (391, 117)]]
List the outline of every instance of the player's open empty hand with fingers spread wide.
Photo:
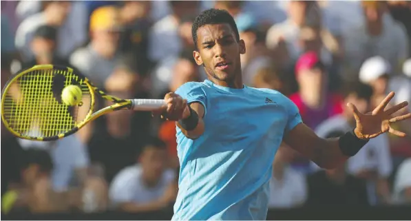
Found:
[(406, 136), (405, 133), (392, 129), (392, 127), (390, 127), (390, 123), (411, 118), (411, 113), (401, 116), (393, 116), (393, 114), (398, 112), (400, 109), (407, 107), (408, 102), (404, 101), (403, 103), (399, 103), (394, 107), (384, 110), (393, 97), (394, 92), (390, 92), (390, 94), (388, 94), (388, 96), (386, 96), (386, 98), (384, 98), (383, 101), (381, 101), (381, 103), (368, 114), (360, 113), (357, 107), (355, 107), (352, 103), (347, 104), (352, 110), (352, 114), (354, 114), (355, 121), (357, 123), (357, 127), (354, 132), (358, 138), (375, 138), (386, 131), (397, 136)]

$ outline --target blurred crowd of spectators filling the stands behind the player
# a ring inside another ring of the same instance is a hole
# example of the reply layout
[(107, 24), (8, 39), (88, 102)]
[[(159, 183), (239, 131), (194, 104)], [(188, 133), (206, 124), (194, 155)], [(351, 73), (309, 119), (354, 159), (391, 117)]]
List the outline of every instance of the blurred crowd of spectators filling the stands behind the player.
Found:
[[(120, 98), (163, 98), (207, 77), (191, 39), (207, 8), (235, 18), (244, 84), (291, 98), (319, 136), (355, 126), (348, 102), (369, 112), (394, 91), (391, 105), (411, 103), (411, 1), (1, 1), (1, 87), (53, 63)], [(393, 126), (408, 136), (383, 134), (332, 170), (282, 145), (270, 207), (410, 204), (411, 121)], [(175, 123), (147, 112), (114, 112), (49, 143), (2, 125), (1, 211), (157, 211), (176, 198), (178, 165)]]

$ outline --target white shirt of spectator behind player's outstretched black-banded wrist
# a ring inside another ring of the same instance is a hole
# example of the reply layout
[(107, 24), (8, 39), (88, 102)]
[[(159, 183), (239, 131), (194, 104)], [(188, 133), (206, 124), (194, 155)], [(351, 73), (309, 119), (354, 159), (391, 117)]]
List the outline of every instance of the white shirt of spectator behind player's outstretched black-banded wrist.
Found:
[[(332, 131), (348, 131), (350, 129), (352, 127), (348, 125), (346, 118), (338, 115), (324, 120), (315, 129), (315, 133), (324, 138)], [(348, 159), (347, 170), (353, 175), (362, 170), (372, 170), (377, 171), (381, 178), (388, 178), (392, 172), (392, 160), (387, 134), (370, 139), (355, 156)]]

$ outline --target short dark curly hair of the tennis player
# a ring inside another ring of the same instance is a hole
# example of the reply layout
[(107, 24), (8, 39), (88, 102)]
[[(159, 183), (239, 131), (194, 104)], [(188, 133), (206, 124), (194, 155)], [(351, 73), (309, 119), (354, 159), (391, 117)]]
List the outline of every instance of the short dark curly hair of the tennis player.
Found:
[(204, 25), (209, 24), (221, 24), (228, 23), (233, 31), (237, 41), (240, 41), (240, 34), (238, 34), (237, 25), (234, 18), (226, 10), (211, 8), (201, 12), (201, 14), (194, 19), (193, 26), (191, 27), (191, 34), (193, 35), (194, 45), (197, 47), (197, 30)]

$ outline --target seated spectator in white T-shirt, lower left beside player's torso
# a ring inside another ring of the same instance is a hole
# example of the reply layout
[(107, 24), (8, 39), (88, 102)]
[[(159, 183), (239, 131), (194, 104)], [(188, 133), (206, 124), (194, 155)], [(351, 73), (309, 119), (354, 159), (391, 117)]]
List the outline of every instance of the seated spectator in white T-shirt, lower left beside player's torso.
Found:
[(143, 148), (138, 164), (126, 167), (114, 178), (109, 189), (113, 206), (120, 211), (158, 211), (175, 200), (176, 174), (167, 167), (165, 143), (153, 139)]

